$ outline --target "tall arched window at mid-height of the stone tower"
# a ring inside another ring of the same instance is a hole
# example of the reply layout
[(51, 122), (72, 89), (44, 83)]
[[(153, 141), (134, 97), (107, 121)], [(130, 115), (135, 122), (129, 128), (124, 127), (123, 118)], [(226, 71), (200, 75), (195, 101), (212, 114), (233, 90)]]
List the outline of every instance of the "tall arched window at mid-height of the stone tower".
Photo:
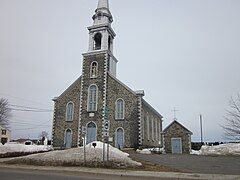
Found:
[(91, 85), (88, 89), (88, 111), (97, 111), (97, 86)]

